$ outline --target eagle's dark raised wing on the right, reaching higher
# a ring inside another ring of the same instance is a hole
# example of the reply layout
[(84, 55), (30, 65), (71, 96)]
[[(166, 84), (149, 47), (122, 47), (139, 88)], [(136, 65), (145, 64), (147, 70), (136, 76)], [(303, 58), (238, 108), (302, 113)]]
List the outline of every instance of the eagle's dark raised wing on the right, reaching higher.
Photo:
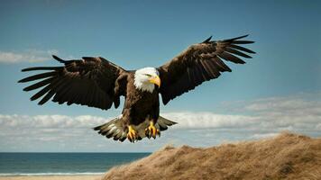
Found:
[(223, 59), (244, 64), (245, 62), (237, 56), (252, 58), (244, 53), (254, 53), (252, 50), (239, 46), (239, 44), (253, 43), (251, 40), (240, 40), (246, 36), (230, 40), (211, 40), (210, 37), (202, 43), (188, 47), (179, 56), (158, 67), (161, 76), (162, 102), (169, 103), (170, 100), (194, 89), (204, 81), (217, 78), (221, 72), (231, 71)]

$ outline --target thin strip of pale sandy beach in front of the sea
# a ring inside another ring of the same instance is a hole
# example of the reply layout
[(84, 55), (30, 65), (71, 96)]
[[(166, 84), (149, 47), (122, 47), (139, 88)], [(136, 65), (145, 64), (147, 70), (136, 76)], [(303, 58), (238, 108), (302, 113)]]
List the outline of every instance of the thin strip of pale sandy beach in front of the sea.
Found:
[(102, 175), (0, 176), (0, 180), (100, 180)]

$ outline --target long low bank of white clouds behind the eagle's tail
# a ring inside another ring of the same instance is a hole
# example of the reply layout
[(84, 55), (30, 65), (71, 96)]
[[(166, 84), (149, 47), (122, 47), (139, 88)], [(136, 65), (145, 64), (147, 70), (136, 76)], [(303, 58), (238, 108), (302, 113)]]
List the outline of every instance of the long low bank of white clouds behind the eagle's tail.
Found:
[[(162, 143), (168, 142), (176, 145), (211, 146), (225, 140), (271, 137), (282, 130), (320, 136), (321, 98), (318, 98), (319, 95), (314, 94), (313, 98), (297, 95), (225, 104), (225, 108), (234, 112), (233, 114), (164, 112), (161, 113), (162, 116), (179, 124), (165, 131), (162, 138), (157, 139), (159, 143), (151, 143), (150, 140), (143, 144), (147, 146), (146, 149), (151, 150), (161, 148)], [(119, 148), (123, 145), (110, 139), (106, 140), (91, 130), (111, 118), (91, 115), (71, 117), (59, 114), (36, 116), (0, 114), (0, 143), (18, 151), (23, 144), (28, 147), (27, 142), (42, 143), (39, 146), (46, 145), (47, 148), (50, 148), (50, 144), (52, 146), (56, 144), (57, 146), (50, 149), (60, 147), (62, 150), (70, 151), (79, 149), (104, 151)], [(96, 143), (98, 141), (100, 143)], [(137, 151), (140, 149), (142, 151), (142, 144), (136, 148)], [(0, 151), (4, 150), (0, 148)]]

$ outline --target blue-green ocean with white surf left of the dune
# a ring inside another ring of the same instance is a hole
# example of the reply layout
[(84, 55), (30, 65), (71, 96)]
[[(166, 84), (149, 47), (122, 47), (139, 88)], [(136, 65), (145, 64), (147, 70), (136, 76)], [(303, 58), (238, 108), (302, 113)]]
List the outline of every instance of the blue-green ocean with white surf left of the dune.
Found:
[(0, 153), (0, 176), (99, 175), (151, 153)]

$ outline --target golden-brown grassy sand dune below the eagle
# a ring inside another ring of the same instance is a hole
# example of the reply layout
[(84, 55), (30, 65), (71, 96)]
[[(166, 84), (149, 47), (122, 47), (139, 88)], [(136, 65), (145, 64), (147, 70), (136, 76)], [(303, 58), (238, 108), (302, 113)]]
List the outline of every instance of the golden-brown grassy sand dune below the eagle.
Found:
[(109, 170), (123, 179), (321, 179), (321, 139), (282, 133), (213, 148), (167, 147)]

